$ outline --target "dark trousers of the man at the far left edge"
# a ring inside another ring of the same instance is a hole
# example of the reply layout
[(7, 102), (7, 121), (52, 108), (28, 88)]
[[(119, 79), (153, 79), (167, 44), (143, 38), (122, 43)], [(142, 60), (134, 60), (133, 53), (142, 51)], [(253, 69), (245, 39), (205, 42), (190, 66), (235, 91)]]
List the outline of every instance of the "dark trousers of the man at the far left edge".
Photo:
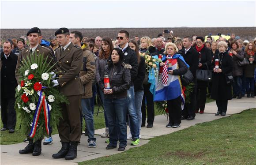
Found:
[(14, 109), (15, 98), (1, 98), (1, 119), (7, 129), (15, 129), (16, 111)]

